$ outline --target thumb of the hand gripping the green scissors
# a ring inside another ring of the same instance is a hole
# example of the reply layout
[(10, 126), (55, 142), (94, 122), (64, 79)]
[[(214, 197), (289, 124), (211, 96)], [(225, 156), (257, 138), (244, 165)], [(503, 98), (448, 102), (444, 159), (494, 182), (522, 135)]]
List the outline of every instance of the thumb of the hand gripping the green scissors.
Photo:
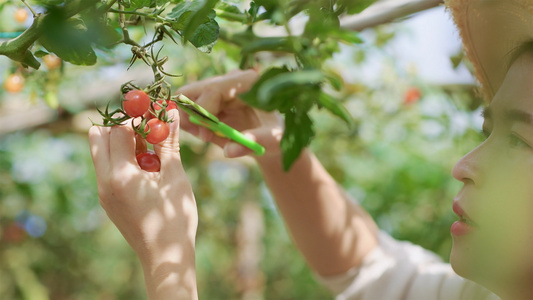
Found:
[[(279, 153), (279, 143), (283, 135), (281, 128), (257, 128), (242, 132), (247, 138), (265, 147), (265, 154), (271, 155)], [(234, 141), (229, 141), (224, 145), (224, 156), (236, 158), (253, 154), (253, 150)]]

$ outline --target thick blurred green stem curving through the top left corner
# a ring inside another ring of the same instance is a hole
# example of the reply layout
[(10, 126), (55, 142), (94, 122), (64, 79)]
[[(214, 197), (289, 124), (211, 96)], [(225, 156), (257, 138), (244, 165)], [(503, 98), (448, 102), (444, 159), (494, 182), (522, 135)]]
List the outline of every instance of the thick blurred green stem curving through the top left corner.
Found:
[[(70, 18), (100, 0), (72, 0), (65, 4), (65, 18)], [(40, 63), (29, 51), (42, 33), (43, 21), (46, 15), (36, 15), (33, 24), (18, 37), (0, 44), (0, 55), (5, 55), (14, 61), (21, 62), (24, 66), (39, 69)]]

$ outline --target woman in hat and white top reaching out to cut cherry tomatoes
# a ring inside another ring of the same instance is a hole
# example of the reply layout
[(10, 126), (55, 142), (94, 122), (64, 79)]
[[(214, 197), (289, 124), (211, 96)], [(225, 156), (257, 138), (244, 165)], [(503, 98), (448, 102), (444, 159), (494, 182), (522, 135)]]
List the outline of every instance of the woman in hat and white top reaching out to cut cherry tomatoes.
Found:
[[(255, 71), (179, 91), (265, 146), (266, 154), (254, 159), (294, 243), (337, 299), (533, 299), (533, 0), (447, 5), (487, 99), (487, 139), (453, 169), (463, 188), (450, 199), (458, 216), (451, 225), (451, 265), (379, 231), (309, 150), (283, 172), (277, 116), (238, 99), (257, 80)], [(198, 215), (180, 161), (180, 126), (223, 147), (227, 157), (251, 154), (182, 118), (155, 146), (161, 171), (147, 173), (135, 161), (131, 128), (89, 132), (100, 202), (137, 253), (150, 299), (197, 298)]]

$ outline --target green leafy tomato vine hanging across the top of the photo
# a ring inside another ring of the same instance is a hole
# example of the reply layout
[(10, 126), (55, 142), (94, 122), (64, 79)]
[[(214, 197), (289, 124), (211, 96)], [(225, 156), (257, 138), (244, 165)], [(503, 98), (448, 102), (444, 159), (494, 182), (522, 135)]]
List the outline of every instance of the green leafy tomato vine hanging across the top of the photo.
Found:
[[(142, 60), (152, 67), (154, 83), (148, 89), (153, 89), (150, 97), (157, 101), (171, 100), (171, 87), (164, 77), (172, 74), (163, 69), (171, 58), (153, 53), (165, 38), (176, 44), (191, 44), (206, 53), (222, 39), (240, 48), (241, 68), (254, 67), (259, 52), (281, 54), (289, 58), (288, 62), (266, 68), (243, 100), (285, 116), (281, 146), (283, 165), (288, 169), (315, 134), (309, 115), (313, 108), (325, 108), (351, 123), (344, 107), (326, 92), (342, 89), (342, 80), (325, 67), (325, 62), (339, 51), (339, 43), (362, 42), (357, 32), (340, 26), (340, 17), (357, 14), (374, 1), (254, 0), (244, 5), (225, 0), (23, 0), (33, 14), (33, 22), (18, 37), (0, 44), (0, 55), (33, 69), (40, 67), (36, 57), (49, 53), (72, 64), (93, 65), (97, 61), (95, 48), (128, 45), (132, 64)], [(43, 8), (43, 12), (33, 9), (33, 5)], [(294, 20), (303, 20), (301, 32), (293, 32)], [(155, 32), (145, 45), (129, 33), (130, 26), (138, 24)], [(281, 33), (258, 34), (265, 26)], [(114, 122), (118, 121), (104, 118), (104, 124)]]

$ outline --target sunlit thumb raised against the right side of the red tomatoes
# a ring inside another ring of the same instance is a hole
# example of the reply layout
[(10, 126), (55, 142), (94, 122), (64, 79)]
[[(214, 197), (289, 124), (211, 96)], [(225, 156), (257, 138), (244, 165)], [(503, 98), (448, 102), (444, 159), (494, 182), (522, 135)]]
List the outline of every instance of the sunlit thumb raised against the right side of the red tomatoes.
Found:
[[(173, 120), (170, 123), (170, 133), (166, 140), (154, 145), (154, 150), (159, 159), (161, 160), (161, 178), (174, 177), (176, 172), (181, 171), (183, 168), (176, 169), (177, 166), (181, 166), (180, 156), (180, 115), (178, 110), (171, 109), (168, 112), (169, 119)], [(171, 173), (171, 174), (165, 174)]]

